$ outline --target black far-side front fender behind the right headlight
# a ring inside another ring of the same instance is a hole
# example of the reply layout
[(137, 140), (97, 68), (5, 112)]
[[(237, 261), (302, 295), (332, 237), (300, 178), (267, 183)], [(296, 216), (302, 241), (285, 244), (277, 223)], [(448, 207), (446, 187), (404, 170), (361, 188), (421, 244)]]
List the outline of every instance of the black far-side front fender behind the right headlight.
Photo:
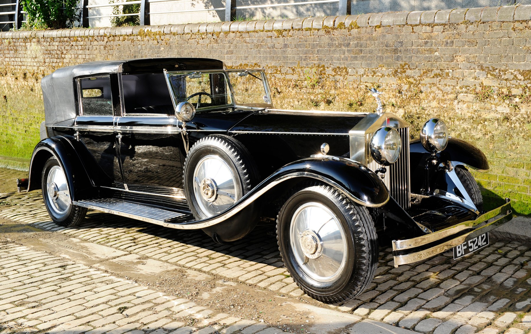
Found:
[[(431, 155), (424, 149), (419, 139), (409, 143), (409, 152), (412, 168), (417, 165), (424, 168), (424, 162)], [(446, 149), (436, 155), (444, 164), (451, 162), (452, 166), (463, 165), (478, 172), (489, 172), (489, 162), (483, 152), (464, 140), (450, 138)]]

